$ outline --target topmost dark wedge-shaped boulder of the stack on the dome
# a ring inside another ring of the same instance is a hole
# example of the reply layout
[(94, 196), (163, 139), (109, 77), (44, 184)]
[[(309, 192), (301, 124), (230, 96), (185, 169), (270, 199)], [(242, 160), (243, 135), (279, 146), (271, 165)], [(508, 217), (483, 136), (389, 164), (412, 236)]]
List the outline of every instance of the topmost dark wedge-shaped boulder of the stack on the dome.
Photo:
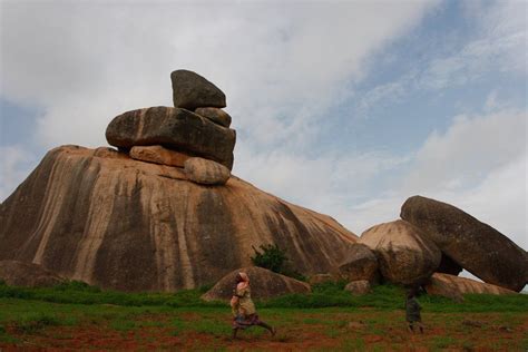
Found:
[(177, 108), (194, 110), (199, 107), (225, 108), (225, 95), (196, 72), (176, 70), (170, 74), (173, 101)]

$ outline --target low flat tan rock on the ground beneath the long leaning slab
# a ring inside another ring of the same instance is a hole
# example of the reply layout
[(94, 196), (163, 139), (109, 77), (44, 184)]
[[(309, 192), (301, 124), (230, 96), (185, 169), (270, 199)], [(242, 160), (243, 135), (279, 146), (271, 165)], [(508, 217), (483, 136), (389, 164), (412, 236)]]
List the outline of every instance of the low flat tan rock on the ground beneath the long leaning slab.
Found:
[(487, 294), (515, 294), (510, 291), (492, 284), (477, 282), (471, 278), (460, 277), (449, 274), (434, 273), (426, 285), (428, 294), (441, 295), (457, 301), (463, 300), (467, 293)]

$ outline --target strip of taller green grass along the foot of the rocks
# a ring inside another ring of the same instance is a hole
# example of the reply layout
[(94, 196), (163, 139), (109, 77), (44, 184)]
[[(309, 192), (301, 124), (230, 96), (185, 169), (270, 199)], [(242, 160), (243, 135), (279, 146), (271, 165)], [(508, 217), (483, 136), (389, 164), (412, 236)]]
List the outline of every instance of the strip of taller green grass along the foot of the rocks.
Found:
[[(403, 310), (404, 290), (395, 285), (379, 285), (373, 292), (354, 296), (344, 291), (344, 282), (314, 285), (309, 294), (289, 294), (260, 301), (260, 307), (322, 309), (372, 307), (375, 310)], [(205, 302), (201, 295), (208, 287), (183, 290), (176, 293), (125, 293), (102, 291), (82, 282), (67, 282), (53, 287), (12, 287), (0, 282), (0, 299), (45, 301), (61, 304), (107, 304), (110, 306), (168, 306), (168, 307), (225, 307), (227, 302)], [(528, 295), (468, 294), (458, 303), (446, 297), (422, 295), (419, 302), (424, 312), (526, 312)], [(1, 317), (1, 312), (0, 312)]]

